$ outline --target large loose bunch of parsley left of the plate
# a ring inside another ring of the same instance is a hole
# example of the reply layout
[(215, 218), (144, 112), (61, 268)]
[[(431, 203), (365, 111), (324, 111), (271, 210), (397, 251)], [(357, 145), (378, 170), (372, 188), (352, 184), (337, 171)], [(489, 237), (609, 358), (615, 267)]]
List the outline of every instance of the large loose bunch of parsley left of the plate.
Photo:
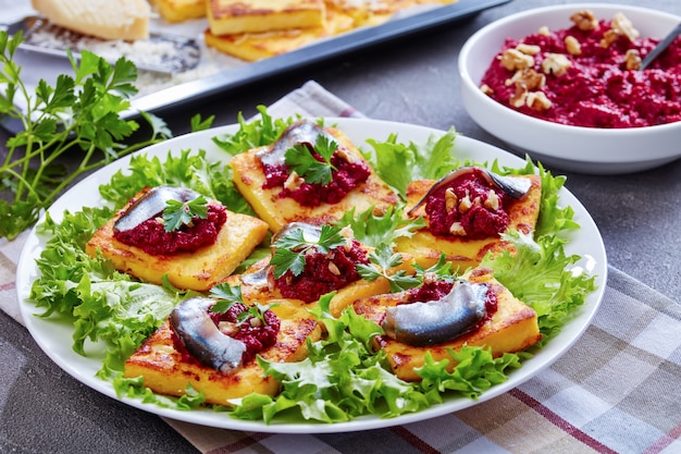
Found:
[[(122, 118), (137, 93), (137, 68), (129, 60), (111, 65), (83, 51), (79, 62), (70, 56), (74, 75), (60, 75), (54, 86), (41, 79), (30, 89), (14, 61), (23, 40), (21, 33), (0, 32), (0, 115), (18, 120), (23, 128), (7, 142), (0, 162), (0, 192), (11, 199), (0, 200), (0, 236), (9, 240), (33, 225), (84, 173), (171, 136), (165, 123), (141, 112), (150, 137), (124, 144), (139, 128), (136, 121)], [(66, 170), (59, 161), (62, 156), (77, 157), (81, 163)]]

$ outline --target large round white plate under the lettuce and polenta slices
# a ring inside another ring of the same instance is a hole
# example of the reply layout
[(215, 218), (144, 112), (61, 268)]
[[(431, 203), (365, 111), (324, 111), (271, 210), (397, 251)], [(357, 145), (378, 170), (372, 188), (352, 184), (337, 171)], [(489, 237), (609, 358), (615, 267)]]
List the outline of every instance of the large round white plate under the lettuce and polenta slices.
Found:
[[(397, 133), (399, 142), (414, 142), (417, 144), (425, 143), (432, 134), (443, 134), (442, 131), (429, 127), (394, 122), (357, 119), (326, 120), (326, 124), (333, 123), (337, 124), (338, 127), (355, 142), (356, 145), (364, 147), (368, 147), (364, 143), (367, 138), (382, 140), (387, 138), (391, 133)], [(169, 150), (178, 154), (181, 150), (185, 149), (203, 149), (206, 150), (209, 159), (224, 160), (226, 158), (225, 152), (220, 150), (213, 144), (211, 138), (219, 134), (233, 133), (237, 130), (237, 125), (230, 125), (176, 137), (174, 139), (151, 146), (140, 152), (147, 154), (149, 157), (158, 156), (160, 159), (164, 159)], [(505, 165), (516, 168), (524, 165), (523, 160), (506, 151), (463, 136), (457, 137), (455, 150), (457, 157), (461, 158), (472, 158), (476, 161), (490, 162), (494, 159), (498, 159), (499, 162)], [(62, 220), (62, 213), (65, 209), (74, 212), (79, 210), (81, 207), (100, 206), (102, 200), (99, 197), (99, 185), (108, 182), (114, 172), (121, 169), (127, 169), (128, 162), (129, 157), (123, 158), (78, 183), (74, 188), (69, 191), (54, 203), (49, 210), (50, 216), (54, 219), (54, 221), (59, 222)], [(16, 287), (20, 307), (22, 316), (26, 322), (26, 328), (28, 328), (30, 334), (45, 353), (62, 369), (84, 384), (101, 392), (102, 394), (160, 416), (218, 428), (278, 433), (347, 432), (404, 425), (467, 408), (503, 394), (550, 366), (582, 335), (591, 322), (591, 319), (603, 297), (607, 273), (606, 255), (603, 238), (600, 237), (598, 229), (579, 200), (564, 188), (560, 193), (560, 203), (562, 205), (570, 205), (574, 209), (574, 220), (582, 226), (581, 230), (579, 230), (574, 235), (573, 241), (571, 241), (568, 245), (567, 253), (579, 254), (584, 257), (584, 260), (578, 265), (587, 270), (589, 273), (597, 277), (596, 284), (598, 289), (587, 296), (583, 309), (564, 328), (560, 334), (548, 343), (548, 345), (546, 345), (533, 358), (525, 360), (522, 368), (512, 371), (507, 382), (492, 388), (478, 401), (469, 398), (451, 398), (444, 404), (433, 406), (423, 412), (404, 415), (393, 419), (381, 419), (374, 416), (367, 416), (349, 422), (338, 422), (333, 425), (313, 422), (276, 422), (268, 426), (259, 421), (243, 421), (233, 419), (224, 413), (215, 413), (211, 409), (181, 412), (161, 408), (154, 404), (144, 404), (140, 401), (133, 398), (117, 397), (111, 383), (95, 377), (95, 373), (101, 367), (100, 359), (96, 357), (83, 357), (71, 348), (73, 342), (73, 326), (71, 323), (35, 317), (35, 314), (39, 314), (39, 310), (37, 310), (36, 306), (28, 302), (27, 298), (30, 295), (32, 283), (38, 278), (38, 269), (36, 267), (35, 259), (39, 257), (45, 247), (44, 238), (36, 235), (35, 230), (28, 236), (17, 267)]]

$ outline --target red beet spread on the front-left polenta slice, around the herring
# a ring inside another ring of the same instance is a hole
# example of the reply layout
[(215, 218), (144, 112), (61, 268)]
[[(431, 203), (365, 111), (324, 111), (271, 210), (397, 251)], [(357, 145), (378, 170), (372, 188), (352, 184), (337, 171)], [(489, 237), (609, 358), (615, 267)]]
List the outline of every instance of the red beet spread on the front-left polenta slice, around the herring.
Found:
[[(246, 344), (246, 351), (242, 356), (243, 364), (247, 364), (248, 361), (253, 359), (258, 353), (274, 345), (276, 343), (276, 336), (281, 327), (281, 320), (271, 310), (264, 311), (264, 323), (262, 323), (260, 320), (258, 322), (251, 323), (251, 320), (253, 319), (252, 316), (247, 317), (240, 322), (237, 322), (239, 314), (246, 310), (248, 310), (246, 305), (242, 303), (236, 303), (224, 314), (210, 312), (210, 317), (216, 326), (219, 326), (221, 321), (237, 323), (238, 331), (231, 335), (232, 338), (239, 340), (244, 344)], [(187, 352), (183, 342), (179, 340), (174, 330), (172, 330), (172, 339), (173, 345), (175, 349), (182, 354), (183, 360), (195, 363), (198, 365), (201, 364), (189, 352)]]

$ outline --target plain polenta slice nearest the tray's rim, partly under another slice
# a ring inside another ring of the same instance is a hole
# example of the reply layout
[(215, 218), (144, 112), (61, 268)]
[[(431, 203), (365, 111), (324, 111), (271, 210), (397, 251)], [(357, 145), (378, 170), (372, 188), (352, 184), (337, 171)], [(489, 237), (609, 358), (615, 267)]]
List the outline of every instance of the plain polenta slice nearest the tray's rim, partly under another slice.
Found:
[(354, 21), (347, 14), (327, 10), (323, 24), (286, 30), (218, 35), (207, 29), (203, 39), (207, 46), (245, 61), (258, 61), (299, 49), (322, 38), (350, 30)]

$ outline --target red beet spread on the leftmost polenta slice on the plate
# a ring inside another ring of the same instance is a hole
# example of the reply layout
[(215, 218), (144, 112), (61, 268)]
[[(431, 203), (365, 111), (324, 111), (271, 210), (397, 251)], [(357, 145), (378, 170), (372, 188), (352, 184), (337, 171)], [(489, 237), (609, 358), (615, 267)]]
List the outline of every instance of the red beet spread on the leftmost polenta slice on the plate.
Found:
[(139, 225), (127, 231), (114, 231), (113, 236), (128, 246), (136, 246), (153, 256), (190, 253), (199, 247), (214, 244), (220, 229), (227, 220), (222, 205), (208, 205), (206, 219), (195, 218), (191, 225), (166, 232), (158, 216), (147, 219)]

